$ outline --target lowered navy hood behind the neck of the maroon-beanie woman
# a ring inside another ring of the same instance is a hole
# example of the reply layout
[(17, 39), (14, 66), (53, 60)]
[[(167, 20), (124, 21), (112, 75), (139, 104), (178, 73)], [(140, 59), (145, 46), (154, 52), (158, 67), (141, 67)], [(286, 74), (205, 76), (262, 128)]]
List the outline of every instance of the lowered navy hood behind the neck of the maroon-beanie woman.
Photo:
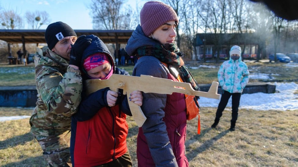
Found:
[(139, 47), (144, 47), (144, 46), (154, 46), (156, 44), (160, 44), (157, 40), (153, 40), (149, 37), (146, 37), (142, 27), (140, 24), (136, 27), (136, 30), (133, 31), (131, 37), (127, 41), (127, 45), (125, 47), (126, 53), (129, 56), (134, 56), (135, 51)]

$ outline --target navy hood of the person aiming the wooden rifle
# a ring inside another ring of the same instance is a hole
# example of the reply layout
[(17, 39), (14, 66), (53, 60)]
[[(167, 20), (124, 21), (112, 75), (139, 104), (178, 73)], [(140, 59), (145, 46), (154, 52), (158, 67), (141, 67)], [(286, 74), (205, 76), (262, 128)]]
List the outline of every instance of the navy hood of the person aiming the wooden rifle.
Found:
[[(111, 62), (113, 71), (115, 72), (114, 58), (113, 58), (112, 54), (110, 53), (109, 49), (107, 48), (107, 46), (104, 44), (104, 42), (102, 40), (100, 40), (100, 38), (95, 35), (88, 35), (86, 37), (91, 38), (92, 42), (83, 52), (83, 56), (82, 56), (82, 60), (81, 60), (81, 67), (83, 67), (85, 58), (87, 58), (91, 54), (100, 52), (100, 53), (105, 53), (109, 56), (109, 58), (111, 60), (110, 62)], [(87, 72), (83, 68), (81, 71), (84, 72), (85, 74), (87, 74)]]

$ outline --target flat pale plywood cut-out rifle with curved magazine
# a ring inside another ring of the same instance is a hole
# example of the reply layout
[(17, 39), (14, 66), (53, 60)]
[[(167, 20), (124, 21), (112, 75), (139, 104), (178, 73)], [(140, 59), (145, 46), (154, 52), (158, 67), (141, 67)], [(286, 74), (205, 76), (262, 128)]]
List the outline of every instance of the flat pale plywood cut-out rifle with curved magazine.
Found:
[[(131, 92), (138, 90), (144, 93), (159, 93), (169, 94), (173, 92), (183, 93), (192, 96), (201, 96), (213, 99), (220, 99), (220, 95), (217, 94), (218, 82), (212, 82), (208, 92), (195, 91), (190, 83), (175, 82), (170, 79), (152, 77), (150, 75), (130, 76), (113, 74), (109, 79), (89, 79), (85, 82), (86, 93), (96, 92), (97, 90), (109, 87), (112, 91), (118, 92), (118, 89), (123, 89), (123, 94), (130, 94)], [(141, 107), (137, 104), (129, 101), (127, 96), (130, 111), (138, 127), (142, 127), (147, 119), (141, 110)]]

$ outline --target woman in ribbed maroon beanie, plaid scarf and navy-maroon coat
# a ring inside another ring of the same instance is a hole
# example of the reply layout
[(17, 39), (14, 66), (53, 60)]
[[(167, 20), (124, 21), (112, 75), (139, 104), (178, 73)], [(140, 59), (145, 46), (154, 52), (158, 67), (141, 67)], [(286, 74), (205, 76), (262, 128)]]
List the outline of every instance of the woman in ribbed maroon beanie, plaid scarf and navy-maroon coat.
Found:
[[(184, 66), (175, 43), (179, 20), (172, 7), (162, 2), (146, 2), (140, 11), (140, 25), (129, 38), (126, 51), (138, 57), (133, 75), (151, 75), (173, 81), (197, 82)], [(187, 102), (184, 94), (143, 93), (142, 110), (147, 120), (137, 136), (138, 166), (188, 166), (185, 155)], [(189, 104), (198, 112), (194, 96)]]

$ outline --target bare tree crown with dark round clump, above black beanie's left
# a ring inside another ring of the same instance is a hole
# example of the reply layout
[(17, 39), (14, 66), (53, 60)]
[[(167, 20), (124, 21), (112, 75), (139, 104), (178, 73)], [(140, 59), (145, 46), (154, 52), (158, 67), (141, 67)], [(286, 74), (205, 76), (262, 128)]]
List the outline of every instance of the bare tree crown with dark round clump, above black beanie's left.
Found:
[(25, 18), (29, 27), (34, 30), (38, 30), (42, 25), (47, 25), (51, 21), (49, 19), (49, 13), (46, 11), (27, 11), (25, 13)]

